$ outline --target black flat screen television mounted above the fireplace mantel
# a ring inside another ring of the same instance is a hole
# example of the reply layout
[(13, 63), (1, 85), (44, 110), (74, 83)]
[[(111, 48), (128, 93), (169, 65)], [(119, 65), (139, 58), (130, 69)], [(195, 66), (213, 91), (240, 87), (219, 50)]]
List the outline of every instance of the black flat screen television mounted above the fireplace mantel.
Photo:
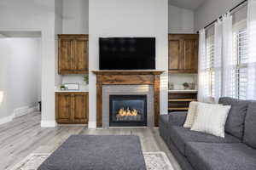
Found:
[(100, 38), (100, 70), (154, 69), (154, 37)]

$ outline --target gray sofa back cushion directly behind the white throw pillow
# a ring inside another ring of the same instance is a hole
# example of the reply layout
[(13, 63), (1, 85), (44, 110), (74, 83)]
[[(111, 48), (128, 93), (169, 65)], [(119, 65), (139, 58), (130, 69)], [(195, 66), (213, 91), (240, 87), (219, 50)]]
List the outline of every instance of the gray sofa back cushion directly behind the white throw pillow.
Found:
[(220, 98), (219, 104), (231, 105), (230, 113), (225, 124), (225, 132), (242, 139), (244, 122), (247, 114), (248, 100)]

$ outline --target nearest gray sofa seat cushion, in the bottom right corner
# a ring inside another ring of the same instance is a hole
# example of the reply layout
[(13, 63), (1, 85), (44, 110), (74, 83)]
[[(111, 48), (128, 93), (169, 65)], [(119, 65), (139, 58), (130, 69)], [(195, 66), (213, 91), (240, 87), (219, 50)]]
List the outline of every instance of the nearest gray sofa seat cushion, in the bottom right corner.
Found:
[(196, 170), (256, 169), (256, 150), (246, 144), (187, 144), (185, 156)]

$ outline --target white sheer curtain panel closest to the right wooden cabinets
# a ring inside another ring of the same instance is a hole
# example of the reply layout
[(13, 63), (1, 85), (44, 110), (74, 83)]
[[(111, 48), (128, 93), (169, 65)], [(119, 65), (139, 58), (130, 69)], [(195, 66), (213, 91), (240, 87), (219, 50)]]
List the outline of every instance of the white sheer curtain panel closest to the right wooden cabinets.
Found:
[(207, 99), (207, 50), (206, 31), (199, 31), (199, 59), (198, 59), (198, 101)]

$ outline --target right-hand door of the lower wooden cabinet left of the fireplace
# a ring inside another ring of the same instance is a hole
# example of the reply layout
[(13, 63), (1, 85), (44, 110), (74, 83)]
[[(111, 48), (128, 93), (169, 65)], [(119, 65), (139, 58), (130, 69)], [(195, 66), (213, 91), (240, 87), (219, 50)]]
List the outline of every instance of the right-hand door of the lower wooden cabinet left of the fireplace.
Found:
[(88, 124), (88, 93), (74, 94), (73, 122)]

